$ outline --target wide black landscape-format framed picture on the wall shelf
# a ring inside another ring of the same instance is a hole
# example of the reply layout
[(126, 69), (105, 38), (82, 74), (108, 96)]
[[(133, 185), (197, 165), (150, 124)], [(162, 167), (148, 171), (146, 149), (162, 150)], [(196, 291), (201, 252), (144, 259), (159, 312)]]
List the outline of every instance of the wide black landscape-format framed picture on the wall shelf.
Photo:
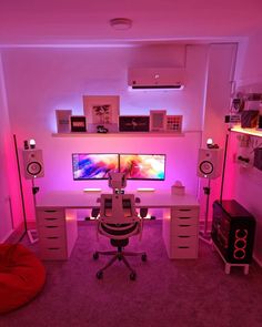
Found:
[(148, 115), (122, 115), (119, 116), (120, 132), (149, 132)]

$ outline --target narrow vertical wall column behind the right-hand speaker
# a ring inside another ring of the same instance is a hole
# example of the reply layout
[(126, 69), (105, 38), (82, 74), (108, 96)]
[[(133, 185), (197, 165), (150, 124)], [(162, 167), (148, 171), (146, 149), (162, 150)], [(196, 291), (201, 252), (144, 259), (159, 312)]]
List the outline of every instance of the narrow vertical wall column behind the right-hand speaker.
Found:
[[(203, 114), (203, 137), (202, 147), (206, 147), (206, 140), (212, 139), (215, 144), (222, 149), (224, 154), (228, 124), (224, 123), (224, 116), (229, 113), (230, 96), (235, 65), (238, 45), (211, 44), (208, 55), (208, 73), (205, 88), (205, 103)], [(221, 165), (221, 163), (220, 163)], [(212, 221), (212, 204), (221, 197), (222, 176), (211, 180), (210, 183), (210, 203), (208, 219)], [(206, 195), (203, 187), (206, 187), (208, 181), (200, 181), (200, 203), (201, 216), (205, 217)], [(230, 191), (224, 188), (222, 197), (229, 196)]]

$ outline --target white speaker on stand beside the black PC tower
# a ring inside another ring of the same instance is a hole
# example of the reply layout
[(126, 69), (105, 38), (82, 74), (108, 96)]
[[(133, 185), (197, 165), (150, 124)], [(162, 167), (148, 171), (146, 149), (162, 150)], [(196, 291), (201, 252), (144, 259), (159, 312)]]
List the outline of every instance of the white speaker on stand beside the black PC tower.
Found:
[(222, 149), (200, 149), (196, 175), (214, 180), (222, 171)]

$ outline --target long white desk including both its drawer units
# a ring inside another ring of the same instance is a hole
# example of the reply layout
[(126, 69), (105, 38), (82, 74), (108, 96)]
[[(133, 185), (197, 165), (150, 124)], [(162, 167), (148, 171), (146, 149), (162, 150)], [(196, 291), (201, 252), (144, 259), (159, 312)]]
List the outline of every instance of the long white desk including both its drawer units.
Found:
[[(110, 193), (110, 192), (104, 192)], [(132, 193), (132, 191), (127, 191)], [(37, 226), (43, 259), (67, 259), (78, 236), (77, 210), (99, 207), (100, 192), (52, 192), (37, 198)], [(199, 203), (192, 195), (135, 192), (138, 208), (163, 208), (163, 241), (170, 258), (196, 258)]]

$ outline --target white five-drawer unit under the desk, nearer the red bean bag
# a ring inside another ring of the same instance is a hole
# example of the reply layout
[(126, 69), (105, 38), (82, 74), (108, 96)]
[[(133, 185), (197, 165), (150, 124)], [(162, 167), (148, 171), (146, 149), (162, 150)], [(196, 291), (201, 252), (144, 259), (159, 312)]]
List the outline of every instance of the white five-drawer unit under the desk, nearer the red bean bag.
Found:
[(42, 259), (68, 259), (78, 237), (75, 210), (37, 207), (39, 249)]

